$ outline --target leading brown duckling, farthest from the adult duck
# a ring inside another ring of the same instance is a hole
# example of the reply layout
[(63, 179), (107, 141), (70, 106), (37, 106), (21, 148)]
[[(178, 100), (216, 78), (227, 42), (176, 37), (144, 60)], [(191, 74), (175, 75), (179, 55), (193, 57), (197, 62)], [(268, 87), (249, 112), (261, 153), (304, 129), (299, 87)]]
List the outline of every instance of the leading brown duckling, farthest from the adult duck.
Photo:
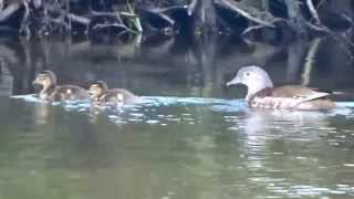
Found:
[(40, 100), (51, 102), (84, 101), (88, 100), (85, 88), (76, 85), (58, 85), (56, 75), (52, 71), (39, 73), (32, 82)]

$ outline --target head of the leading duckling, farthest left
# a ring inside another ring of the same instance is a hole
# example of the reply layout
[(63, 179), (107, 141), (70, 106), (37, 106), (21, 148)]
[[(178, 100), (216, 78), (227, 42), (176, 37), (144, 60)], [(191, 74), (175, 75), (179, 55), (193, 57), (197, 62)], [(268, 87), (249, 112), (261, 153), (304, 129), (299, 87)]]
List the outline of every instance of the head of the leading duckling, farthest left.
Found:
[(43, 71), (37, 75), (32, 85), (40, 94), (48, 92), (51, 87), (55, 87), (56, 76), (52, 71)]

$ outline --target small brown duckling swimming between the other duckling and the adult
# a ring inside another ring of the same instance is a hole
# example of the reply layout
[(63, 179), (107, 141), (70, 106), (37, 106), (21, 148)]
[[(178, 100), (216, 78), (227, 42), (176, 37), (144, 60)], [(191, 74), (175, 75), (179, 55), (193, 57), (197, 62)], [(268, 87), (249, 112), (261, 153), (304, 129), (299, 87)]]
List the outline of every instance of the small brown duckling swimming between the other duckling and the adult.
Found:
[(104, 81), (96, 81), (90, 85), (88, 94), (94, 105), (133, 104), (139, 101), (139, 96), (124, 88), (108, 88)]

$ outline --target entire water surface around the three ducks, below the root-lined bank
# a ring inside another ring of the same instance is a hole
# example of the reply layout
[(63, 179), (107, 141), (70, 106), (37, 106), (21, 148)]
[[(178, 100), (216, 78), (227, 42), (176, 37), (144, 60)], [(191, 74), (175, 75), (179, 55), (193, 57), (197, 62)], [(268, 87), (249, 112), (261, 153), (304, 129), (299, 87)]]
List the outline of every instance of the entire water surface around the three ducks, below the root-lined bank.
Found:
[[(20, 40), (2, 41), (0, 55), (0, 198), (354, 197), (354, 66), (336, 41)], [(244, 88), (223, 83), (251, 63), (277, 85), (344, 92), (345, 102), (325, 113), (248, 109), (235, 100)], [(27, 94), (43, 69), (144, 102), (41, 103)]]

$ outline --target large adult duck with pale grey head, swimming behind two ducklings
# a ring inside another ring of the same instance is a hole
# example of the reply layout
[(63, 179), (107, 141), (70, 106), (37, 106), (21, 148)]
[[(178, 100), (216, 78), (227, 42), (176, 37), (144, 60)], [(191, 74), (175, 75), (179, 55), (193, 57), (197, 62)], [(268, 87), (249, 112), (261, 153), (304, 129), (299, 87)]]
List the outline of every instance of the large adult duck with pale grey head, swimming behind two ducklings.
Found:
[(251, 108), (330, 111), (335, 102), (327, 97), (331, 93), (302, 85), (274, 87), (268, 73), (258, 65), (241, 67), (226, 86), (243, 84), (247, 86), (244, 100)]

